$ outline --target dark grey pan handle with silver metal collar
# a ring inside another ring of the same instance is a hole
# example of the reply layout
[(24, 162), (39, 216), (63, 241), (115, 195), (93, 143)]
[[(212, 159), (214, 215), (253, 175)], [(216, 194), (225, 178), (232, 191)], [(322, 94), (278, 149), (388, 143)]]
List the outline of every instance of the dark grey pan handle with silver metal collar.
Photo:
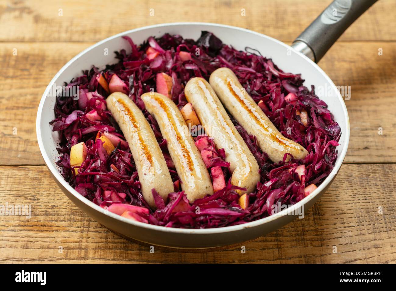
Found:
[(375, 2), (334, 0), (291, 46), (318, 63), (341, 34)]

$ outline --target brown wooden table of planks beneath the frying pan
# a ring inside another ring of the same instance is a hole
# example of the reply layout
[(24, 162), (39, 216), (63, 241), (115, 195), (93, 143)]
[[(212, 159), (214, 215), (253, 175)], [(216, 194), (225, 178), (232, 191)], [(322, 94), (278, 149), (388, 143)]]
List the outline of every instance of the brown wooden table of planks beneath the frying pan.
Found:
[(345, 101), (351, 137), (339, 175), (305, 219), (245, 243), (246, 253), (237, 246), (152, 254), (112, 234), (61, 192), (36, 141), (44, 89), (67, 61), (99, 40), (156, 23), (205, 21), (291, 43), (330, 2), (1, 0), (0, 204), (31, 204), (32, 217), (0, 217), (0, 262), (395, 263), (394, 0), (375, 4), (319, 63), (336, 85), (351, 86)]

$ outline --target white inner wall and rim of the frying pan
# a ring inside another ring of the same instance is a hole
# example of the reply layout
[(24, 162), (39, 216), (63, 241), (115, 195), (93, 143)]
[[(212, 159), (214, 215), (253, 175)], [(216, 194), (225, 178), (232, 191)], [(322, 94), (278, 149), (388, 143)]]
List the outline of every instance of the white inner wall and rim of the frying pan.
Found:
[[(329, 110), (334, 115), (335, 121), (338, 122), (341, 126), (342, 135), (339, 141), (340, 145), (337, 147), (339, 156), (337, 158), (335, 168), (333, 169), (329, 177), (327, 177), (326, 181), (324, 181), (324, 183), (322, 183), (320, 187), (315, 190), (314, 193), (312, 193), (299, 203), (304, 203), (312, 199), (313, 196), (318, 194), (337, 173), (344, 160), (346, 149), (348, 147), (348, 114), (346, 111), (345, 103), (339, 92), (336, 90), (335, 85), (315, 63), (310, 61), (310, 59), (308, 59), (301, 53), (294, 51), (290, 46), (287, 46), (286, 44), (275, 40), (274, 38), (252, 32), (250, 30), (210, 23), (170, 23), (155, 25), (151, 27), (143, 27), (141, 29), (134, 29), (123, 32), (91, 46), (90, 48), (84, 50), (82, 53), (78, 54), (76, 57), (70, 60), (69, 63), (67, 63), (55, 75), (53, 80), (51, 80), (50, 84), (48, 85), (46, 91), (44, 92), (37, 115), (37, 137), (40, 150), (42, 151), (44, 160), (48, 165), (49, 170), (53, 173), (55, 178), (58, 179), (75, 196), (79, 197), (80, 200), (84, 201), (84, 203), (89, 204), (91, 207), (97, 209), (98, 211), (103, 210), (99, 206), (93, 204), (92, 202), (89, 202), (88, 200), (80, 196), (80, 194), (78, 194), (71, 186), (69, 186), (69, 184), (67, 184), (63, 180), (62, 176), (59, 174), (59, 169), (55, 165), (55, 161), (58, 159), (58, 153), (56, 150), (58, 135), (56, 132), (52, 131), (52, 127), (49, 125), (49, 122), (55, 118), (53, 110), (55, 105), (55, 97), (53, 96), (53, 94), (50, 94), (53, 85), (55, 84), (56, 86), (62, 86), (64, 82), (69, 82), (72, 78), (80, 76), (82, 74), (82, 69), (89, 69), (91, 68), (91, 65), (95, 65), (99, 68), (104, 68), (107, 64), (116, 63), (117, 60), (114, 58), (114, 51), (119, 51), (120, 49), (124, 48), (126, 49), (127, 53), (130, 52), (128, 43), (126, 42), (126, 40), (121, 38), (122, 35), (130, 36), (133, 42), (139, 45), (144, 40), (146, 40), (148, 36), (162, 36), (162, 34), (164, 33), (180, 34), (181, 36), (183, 36), (183, 38), (192, 38), (196, 40), (199, 38), (202, 30), (208, 30), (210, 32), (213, 32), (218, 38), (223, 41), (224, 44), (232, 45), (236, 49), (244, 50), (245, 47), (257, 49), (261, 52), (263, 56), (272, 58), (274, 64), (276, 64), (280, 69), (284, 70), (285, 72), (301, 73), (302, 78), (305, 79), (304, 85), (309, 89), (311, 84), (313, 84), (316, 88), (322, 86), (322, 88), (326, 89), (326, 91), (322, 90), (325, 92), (325, 94), (319, 95), (318, 90), (316, 90), (316, 93), (320, 97), (320, 99), (324, 100), (327, 103)], [(109, 55), (105, 55), (106, 50), (109, 51)], [(296, 204), (294, 206), (298, 207), (299, 204)], [(112, 213), (109, 213), (109, 215), (113, 216)], [(114, 217), (117, 217), (118, 219), (121, 219), (123, 221), (126, 220), (118, 215), (114, 215)], [(274, 217), (272, 217), (272, 219), (273, 218)], [(270, 217), (267, 217), (266, 219), (261, 219), (260, 222), (254, 221), (247, 224), (264, 223), (267, 219), (270, 219)], [(140, 224), (136, 222), (131, 223)], [(247, 224), (242, 224), (242, 226), (247, 226)], [(153, 227), (157, 228), (158, 230), (158, 226), (156, 227), (146, 225), (145, 227)], [(239, 227), (241, 227), (241, 225), (229, 226), (226, 228)], [(225, 228), (222, 229), (225, 230)], [(220, 229), (217, 230), (220, 231)], [(183, 232), (184, 230), (167, 228), (167, 231)], [(216, 231), (216, 229), (196, 231), (211, 232)], [(191, 233), (191, 230), (189, 230), (188, 232)]]

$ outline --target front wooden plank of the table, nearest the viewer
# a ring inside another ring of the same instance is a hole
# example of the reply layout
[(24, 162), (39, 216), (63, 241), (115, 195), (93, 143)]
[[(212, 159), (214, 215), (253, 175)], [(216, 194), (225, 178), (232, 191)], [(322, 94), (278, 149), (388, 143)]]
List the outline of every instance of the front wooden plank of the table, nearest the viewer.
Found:
[(32, 217), (0, 219), (0, 262), (395, 263), (395, 171), (395, 164), (343, 165), (304, 219), (244, 243), (246, 253), (241, 245), (210, 253), (155, 249), (152, 254), (71, 204), (46, 167), (2, 166), (0, 204), (31, 204)]

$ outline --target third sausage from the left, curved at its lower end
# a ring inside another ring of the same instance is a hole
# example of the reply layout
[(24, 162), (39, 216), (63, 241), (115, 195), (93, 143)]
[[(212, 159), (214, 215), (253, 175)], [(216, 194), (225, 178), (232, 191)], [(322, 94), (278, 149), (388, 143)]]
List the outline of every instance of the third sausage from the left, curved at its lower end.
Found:
[(203, 78), (192, 78), (184, 93), (216, 147), (225, 149), (225, 160), (230, 163), (232, 172), (231, 184), (246, 188), (246, 191), (237, 191), (240, 195), (253, 192), (260, 180), (259, 165), (212, 87)]

